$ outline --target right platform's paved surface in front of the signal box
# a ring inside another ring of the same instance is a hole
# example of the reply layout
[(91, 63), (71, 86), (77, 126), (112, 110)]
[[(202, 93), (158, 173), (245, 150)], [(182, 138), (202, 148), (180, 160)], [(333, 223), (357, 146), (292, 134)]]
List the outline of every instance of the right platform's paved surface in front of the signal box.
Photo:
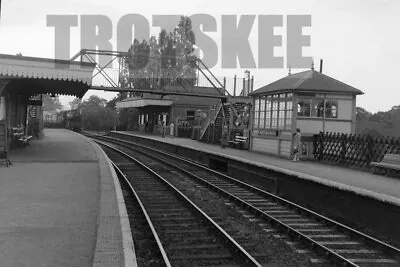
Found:
[(188, 138), (171, 138), (154, 135), (143, 135), (137, 132), (123, 132), (144, 138), (156, 139), (162, 142), (188, 147), (200, 151), (217, 154), (223, 157), (233, 158), (254, 165), (277, 170), (297, 176), (301, 179), (313, 180), (341, 190), (356, 192), (361, 195), (377, 198), (400, 205), (400, 179), (375, 175), (366, 171), (332, 166), (319, 162), (300, 161), (292, 162), (262, 153), (238, 150), (233, 148), (222, 149), (220, 146), (201, 143)]

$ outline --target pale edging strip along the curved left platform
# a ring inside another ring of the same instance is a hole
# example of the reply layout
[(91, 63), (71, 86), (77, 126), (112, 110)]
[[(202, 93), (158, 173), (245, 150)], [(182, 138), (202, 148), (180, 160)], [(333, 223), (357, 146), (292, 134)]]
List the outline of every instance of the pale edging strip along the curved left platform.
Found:
[(117, 205), (118, 205), (120, 224), (121, 224), (121, 234), (122, 234), (122, 247), (124, 250), (124, 267), (137, 267), (135, 246), (132, 240), (132, 232), (129, 223), (128, 212), (126, 210), (125, 200), (122, 195), (121, 185), (118, 181), (118, 177), (114, 170), (114, 167), (112, 166), (111, 160), (108, 158), (107, 154), (104, 152), (103, 149), (101, 149), (101, 147), (96, 142), (79, 133), (76, 132), (73, 133), (85, 138), (87, 142), (89, 142), (92, 145), (93, 149), (101, 153), (101, 155), (103, 155), (104, 159), (107, 161), (109, 170), (111, 172), (111, 176), (113, 178), (115, 192), (117, 196)]

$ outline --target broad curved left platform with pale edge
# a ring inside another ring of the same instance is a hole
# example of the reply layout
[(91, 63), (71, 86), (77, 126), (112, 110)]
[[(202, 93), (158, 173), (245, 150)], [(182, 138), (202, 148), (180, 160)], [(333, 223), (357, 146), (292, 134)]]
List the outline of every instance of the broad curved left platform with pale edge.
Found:
[(63, 129), (12, 150), (0, 165), (1, 266), (136, 266), (112, 165), (88, 138)]

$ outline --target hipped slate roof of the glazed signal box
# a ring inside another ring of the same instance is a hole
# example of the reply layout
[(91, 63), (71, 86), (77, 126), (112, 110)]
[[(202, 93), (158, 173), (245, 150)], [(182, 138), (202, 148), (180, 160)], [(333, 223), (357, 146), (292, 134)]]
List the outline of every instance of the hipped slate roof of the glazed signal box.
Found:
[(364, 94), (357, 88), (311, 69), (295, 74), (289, 74), (282, 79), (253, 91), (249, 95), (254, 96), (258, 94), (280, 93), (285, 91), (329, 92), (351, 95)]

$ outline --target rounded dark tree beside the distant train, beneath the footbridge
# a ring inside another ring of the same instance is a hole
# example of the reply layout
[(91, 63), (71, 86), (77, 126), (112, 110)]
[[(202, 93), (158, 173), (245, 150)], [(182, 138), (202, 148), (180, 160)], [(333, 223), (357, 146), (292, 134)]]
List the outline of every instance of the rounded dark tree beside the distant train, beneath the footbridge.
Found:
[(117, 113), (106, 106), (107, 100), (92, 95), (82, 102), (82, 126), (86, 130), (108, 131), (118, 125)]

